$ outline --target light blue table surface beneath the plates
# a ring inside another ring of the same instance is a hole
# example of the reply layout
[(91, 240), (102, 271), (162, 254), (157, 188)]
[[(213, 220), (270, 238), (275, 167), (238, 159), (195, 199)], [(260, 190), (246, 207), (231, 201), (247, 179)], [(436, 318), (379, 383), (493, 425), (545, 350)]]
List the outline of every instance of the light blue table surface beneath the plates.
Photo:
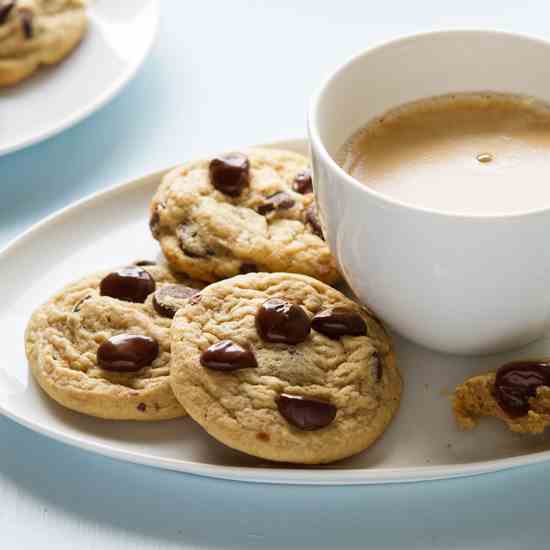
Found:
[[(550, 21), (542, 0), (162, 6), (152, 55), (118, 98), (0, 158), (1, 246), (113, 183), (201, 151), (304, 135), (320, 79), (376, 41), (460, 26), (544, 36)], [(407, 485), (252, 485), (112, 461), (0, 419), (0, 500), (2, 550), (537, 549), (548, 548), (550, 464)]]

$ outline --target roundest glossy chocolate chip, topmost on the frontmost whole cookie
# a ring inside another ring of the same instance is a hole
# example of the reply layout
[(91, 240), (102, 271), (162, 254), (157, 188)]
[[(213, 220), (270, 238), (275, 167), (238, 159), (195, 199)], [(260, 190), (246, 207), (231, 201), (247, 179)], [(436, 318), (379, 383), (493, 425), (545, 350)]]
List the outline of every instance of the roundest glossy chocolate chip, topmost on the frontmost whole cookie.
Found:
[(307, 338), (311, 323), (300, 306), (270, 298), (256, 313), (256, 330), (266, 342), (298, 344)]

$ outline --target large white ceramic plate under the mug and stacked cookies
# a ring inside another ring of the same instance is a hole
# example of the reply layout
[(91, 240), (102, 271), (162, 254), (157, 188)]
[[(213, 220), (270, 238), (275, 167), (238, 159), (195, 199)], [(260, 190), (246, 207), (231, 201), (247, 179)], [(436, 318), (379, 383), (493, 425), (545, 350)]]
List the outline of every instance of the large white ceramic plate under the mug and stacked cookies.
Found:
[[(300, 152), (305, 141), (276, 144)], [(118, 185), (39, 223), (0, 253), (0, 412), (32, 430), (100, 454), (194, 474), (272, 483), (366, 484), (481, 474), (550, 459), (547, 436), (520, 436), (486, 420), (463, 433), (449, 395), (455, 384), (510, 358), (550, 355), (550, 337), (486, 358), (432, 353), (395, 339), (405, 381), (401, 410), (370, 450), (321, 467), (281, 466), (232, 451), (191, 419), (110, 422), (68, 411), (33, 382), (23, 350), (31, 311), (64, 284), (89, 272), (156, 258), (147, 207), (162, 172)], [(399, 292), (399, 289), (396, 289)]]

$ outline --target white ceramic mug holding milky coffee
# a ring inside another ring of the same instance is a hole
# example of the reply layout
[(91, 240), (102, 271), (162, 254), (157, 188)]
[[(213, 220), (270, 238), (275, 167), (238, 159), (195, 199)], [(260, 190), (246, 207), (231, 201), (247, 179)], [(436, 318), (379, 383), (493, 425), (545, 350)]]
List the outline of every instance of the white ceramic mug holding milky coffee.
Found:
[(548, 67), (550, 43), (535, 38), (426, 33), (354, 57), (312, 100), (315, 192), (330, 248), (359, 299), (419, 344), (485, 354), (543, 334), (550, 208), (485, 216), (405, 205), (346, 174), (335, 153), (373, 117), (424, 97), (495, 91), (550, 102)]

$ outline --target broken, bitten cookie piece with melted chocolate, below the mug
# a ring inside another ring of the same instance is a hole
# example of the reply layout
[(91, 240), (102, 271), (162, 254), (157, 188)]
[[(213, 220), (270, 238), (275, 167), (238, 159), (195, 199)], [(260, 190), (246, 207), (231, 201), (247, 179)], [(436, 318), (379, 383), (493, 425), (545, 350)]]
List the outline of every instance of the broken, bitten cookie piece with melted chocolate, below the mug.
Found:
[(550, 360), (514, 361), (469, 378), (455, 389), (453, 411), (464, 429), (494, 416), (514, 432), (543, 432), (550, 425)]

